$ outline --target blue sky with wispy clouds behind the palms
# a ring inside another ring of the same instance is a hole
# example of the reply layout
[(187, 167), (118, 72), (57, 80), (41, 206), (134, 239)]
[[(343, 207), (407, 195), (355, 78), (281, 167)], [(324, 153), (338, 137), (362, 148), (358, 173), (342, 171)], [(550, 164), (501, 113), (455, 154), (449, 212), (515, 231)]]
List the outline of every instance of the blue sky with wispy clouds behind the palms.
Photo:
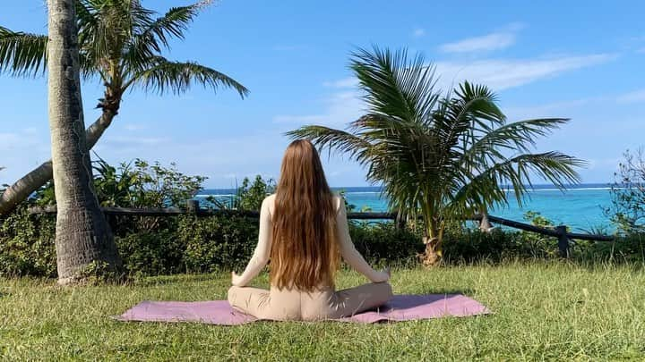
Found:
[[(185, 1), (143, 1), (164, 11)], [(234, 1), (193, 23), (168, 57), (225, 72), (250, 89), (193, 88), (184, 96), (125, 95), (95, 147), (110, 163), (140, 157), (176, 162), (231, 187), (245, 176), (277, 177), (288, 139), (303, 124), (343, 127), (363, 105), (348, 72), (356, 46), (407, 47), (437, 65), (443, 89), (468, 79), (493, 88), (510, 120), (571, 117), (536, 151), (589, 161), (585, 182), (613, 179), (626, 149), (645, 145), (645, 2), (642, 1)], [(0, 25), (47, 32), (43, 0), (4, 1)], [(49, 157), (44, 78), (0, 76), (0, 182)], [(86, 125), (100, 84), (84, 83)], [(366, 185), (342, 156), (323, 159), (332, 186)]]

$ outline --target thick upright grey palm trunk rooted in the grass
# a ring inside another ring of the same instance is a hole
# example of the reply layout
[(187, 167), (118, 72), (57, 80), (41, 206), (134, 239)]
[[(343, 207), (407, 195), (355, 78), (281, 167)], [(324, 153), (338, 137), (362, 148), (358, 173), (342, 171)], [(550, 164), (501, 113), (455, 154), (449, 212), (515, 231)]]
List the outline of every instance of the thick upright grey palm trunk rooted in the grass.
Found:
[(117, 271), (114, 236), (94, 194), (83, 125), (75, 0), (48, 0), (48, 99), (56, 184), (58, 282), (82, 279), (90, 267)]

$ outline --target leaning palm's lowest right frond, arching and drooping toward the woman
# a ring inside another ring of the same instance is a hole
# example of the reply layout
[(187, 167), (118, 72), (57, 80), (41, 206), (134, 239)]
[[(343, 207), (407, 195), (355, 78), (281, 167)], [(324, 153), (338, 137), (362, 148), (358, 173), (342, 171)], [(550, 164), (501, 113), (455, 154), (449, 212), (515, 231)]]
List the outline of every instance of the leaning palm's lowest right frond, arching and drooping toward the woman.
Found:
[(248, 89), (224, 73), (198, 63), (171, 62), (160, 56), (154, 59), (154, 64), (149, 69), (133, 74), (125, 82), (124, 88), (135, 85), (159, 94), (172, 92), (178, 95), (195, 84), (212, 88), (213, 91), (220, 87), (233, 88), (240, 97), (248, 94)]

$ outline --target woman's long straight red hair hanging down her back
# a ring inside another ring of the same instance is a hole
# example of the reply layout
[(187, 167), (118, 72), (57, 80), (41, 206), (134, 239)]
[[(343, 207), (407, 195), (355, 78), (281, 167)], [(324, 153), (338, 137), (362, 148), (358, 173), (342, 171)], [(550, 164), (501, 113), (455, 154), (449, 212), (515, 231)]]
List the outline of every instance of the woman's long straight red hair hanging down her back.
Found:
[(271, 284), (298, 290), (333, 286), (339, 264), (336, 207), (310, 141), (287, 147), (275, 194)]

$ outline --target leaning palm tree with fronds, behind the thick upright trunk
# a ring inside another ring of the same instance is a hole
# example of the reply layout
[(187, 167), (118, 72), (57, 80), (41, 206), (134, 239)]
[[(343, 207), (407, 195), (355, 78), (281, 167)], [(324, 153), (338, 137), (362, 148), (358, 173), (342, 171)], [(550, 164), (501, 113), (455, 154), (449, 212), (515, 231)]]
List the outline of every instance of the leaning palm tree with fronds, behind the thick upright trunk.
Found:
[[(75, 3), (81, 72), (86, 80), (99, 79), (104, 96), (102, 114), (86, 130), (87, 146), (94, 147), (118, 114), (125, 91), (142, 88), (160, 95), (182, 94), (194, 84), (233, 88), (241, 97), (247, 89), (226, 74), (193, 62), (175, 62), (161, 53), (172, 38), (184, 32), (204, 6), (174, 7), (162, 16), (139, 0), (78, 0)], [(13, 31), (0, 26), (0, 72), (14, 76), (43, 74), (47, 65), (47, 36)], [(0, 195), (0, 215), (29, 198), (52, 178), (51, 160), (39, 165)]]

